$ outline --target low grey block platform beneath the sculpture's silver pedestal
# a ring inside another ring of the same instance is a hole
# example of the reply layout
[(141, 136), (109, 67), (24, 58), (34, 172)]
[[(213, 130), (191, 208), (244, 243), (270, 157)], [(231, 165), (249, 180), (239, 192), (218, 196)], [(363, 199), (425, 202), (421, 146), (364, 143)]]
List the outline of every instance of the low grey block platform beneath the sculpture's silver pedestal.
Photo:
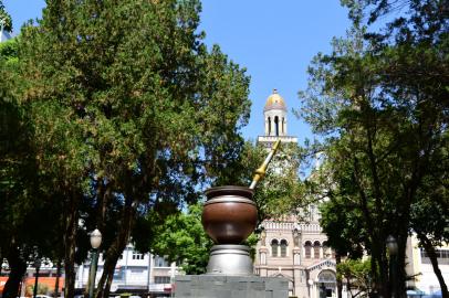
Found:
[(175, 278), (175, 298), (288, 298), (281, 277), (185, 275)]

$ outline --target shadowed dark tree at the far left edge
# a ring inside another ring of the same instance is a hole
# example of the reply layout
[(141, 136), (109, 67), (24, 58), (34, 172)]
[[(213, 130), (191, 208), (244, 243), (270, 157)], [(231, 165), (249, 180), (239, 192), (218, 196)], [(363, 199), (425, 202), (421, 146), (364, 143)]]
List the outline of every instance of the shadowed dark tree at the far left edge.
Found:
[(7, 258), (10, 268), (3, 297), (18, 295), (28, 262), (36, 254), (50, 256), (58, 246), (52, 234), (58, 231), (58, 205), (49, 204), (39, 190), (28, 108), (18, 98), (18, 86), (22, 84), (18, 75), (18, 39), (0, 44), (0, 259)]

